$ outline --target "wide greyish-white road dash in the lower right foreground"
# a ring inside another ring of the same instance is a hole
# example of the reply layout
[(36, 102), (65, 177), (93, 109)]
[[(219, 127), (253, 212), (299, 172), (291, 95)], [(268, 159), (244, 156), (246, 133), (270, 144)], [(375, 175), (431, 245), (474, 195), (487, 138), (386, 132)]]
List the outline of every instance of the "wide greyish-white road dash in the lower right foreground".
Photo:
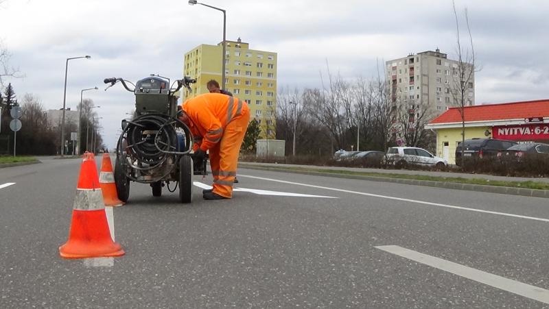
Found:
[(544, 288), (530, 286), (530, 284), (500, 277), (499, 275), (493, 275), (491, 273), (487, 273), (486, 271), (479, 271), (478, 269), (463, 266), (462, 264), (450, 262), (441, 258), (435, 258), (434, 256), (428, 256), (427, 254), (422, 254), (420, 252), (399, 246), (377, 246), (376, 248), (390, 254), (396, 254), (397, 256), (407, 258), (408, 260), (413, 260), (436, 269), (447, 271), (448, 273), (453, 273), (454, 275), (466, 277), (467, 279), (474, 280), (482, 284), (487, 284), (489, 286), (493, 286), (494, 288), (499, 288), (503, 291), (515, 293), (517, 295), (549, 304), (549, 291)]

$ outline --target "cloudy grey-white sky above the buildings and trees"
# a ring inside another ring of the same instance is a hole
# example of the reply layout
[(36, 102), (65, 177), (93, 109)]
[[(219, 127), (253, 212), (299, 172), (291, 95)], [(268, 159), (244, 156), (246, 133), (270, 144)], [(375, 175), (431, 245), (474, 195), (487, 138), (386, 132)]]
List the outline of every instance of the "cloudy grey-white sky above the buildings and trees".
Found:
[[(38, 97), (62, 108), (67, 58), (67, 107), (80, 90), (102, 117), (115, 147), (120, 121), (134, 110), (132, 93), (105, 77), (137, 81), (151, 73), (181, 78), (183, 55), (222, 41), (222, 13), (186, 0), (3, 0), (0, 42), (24, 77), (9, 79), (19, 99)], [(377, 63), (437, 47), (456, 58), (451, 0), (204, 0), (226, 10), (226, 38), (278, 54), (279, 88), (320, 87), (320, 76), (374, 77)], [(456, 0), (462, 42), (464, 11), (476, 52), (476, 104), (549, 98), (549, 1)]]

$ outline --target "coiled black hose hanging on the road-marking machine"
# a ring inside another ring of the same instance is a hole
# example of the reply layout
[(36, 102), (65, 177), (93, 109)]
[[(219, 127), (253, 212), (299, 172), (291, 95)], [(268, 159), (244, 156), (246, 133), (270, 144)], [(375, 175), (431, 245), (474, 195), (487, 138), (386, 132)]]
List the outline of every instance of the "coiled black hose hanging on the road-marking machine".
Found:
[[(141, 171), (141, 174), (152, 174), (154, 169), (161, 168), (169, 158), (178, 162), (179, 156), (188, 154), (192, 149), (191, 130), (182, 121), (165, 114), (143, 114), (131, 121), (126, 121), (117, 143), (117, 159), (128, 164), (131, 169)], [(176, 128), (183, 129), (178, 134)], [(181, 145), (179, 136), (185, 136)], [(121, 160), (119, 156), (124, 156)], [(176, 168), (173, 164), (170, 171), (161, 177), (150, 180), (137, 180), (126, 169), (126, 176), (136, 182), (157, 182), (170, 175)], [(151, 173), (148, 173), (151, 172)]]

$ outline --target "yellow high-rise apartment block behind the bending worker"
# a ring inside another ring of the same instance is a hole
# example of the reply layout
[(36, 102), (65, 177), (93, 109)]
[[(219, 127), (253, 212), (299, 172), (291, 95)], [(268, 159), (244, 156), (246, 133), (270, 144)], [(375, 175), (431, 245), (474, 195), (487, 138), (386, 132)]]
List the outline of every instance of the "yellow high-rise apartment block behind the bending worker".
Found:
[[(207, 93), (206, 84), (210, 79), (222, 87), (222, 47), (222, 42), (202, 44), (185, 53), (183, 74), (196, 78), (196, 84), (191, 86), (192, 92), (182, 90), (183, 101)], [(261, 125), (261, 137), (275, 138), (277, 53), (249, 47), (240, 38), (226, 41), (225, 90), (248, 103), (251, 116)]]

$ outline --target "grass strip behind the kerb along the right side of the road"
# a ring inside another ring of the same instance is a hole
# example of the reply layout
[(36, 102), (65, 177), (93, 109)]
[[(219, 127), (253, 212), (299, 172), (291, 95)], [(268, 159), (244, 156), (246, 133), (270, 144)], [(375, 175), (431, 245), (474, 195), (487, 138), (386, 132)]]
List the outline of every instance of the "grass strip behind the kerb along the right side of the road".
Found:
[[(243, 163), (244, 165), (245, 163)], [(259, 167), (259, 166), (258, 166)], [(260, 167), (261, 168), (261, 167)], [(384, 177), (384, 178), (397, 178), (406, 180), (427, 180), (430, 182), (454, 182), (457, 184), (480, 184), (484, 186), (504, 186), (510, 188), (526, 188), (536, 190), (549, 190), (549, 184), (544, 182), (504, 182), (500, 180), (483, 180), (478, 178), (462, 178), (462, 177), (437, 177), (427, 175), (406, 175), (406, 174), (391, 174), (391, 173), (369, 173), (369, 172), (356, 172), (356, 171), (344, 171), (344, 170), (331, 170), (331, 169), (307, 169), (303, 167), (294, 166), (268, 166), (268, 169), (290, 170), (290, 171), (302, 171), (302, 172), (316, 172), (316, 173), (328, 173), (336, 175), (359, 175), (359, 176), (371, 176), (371, 177)]]

